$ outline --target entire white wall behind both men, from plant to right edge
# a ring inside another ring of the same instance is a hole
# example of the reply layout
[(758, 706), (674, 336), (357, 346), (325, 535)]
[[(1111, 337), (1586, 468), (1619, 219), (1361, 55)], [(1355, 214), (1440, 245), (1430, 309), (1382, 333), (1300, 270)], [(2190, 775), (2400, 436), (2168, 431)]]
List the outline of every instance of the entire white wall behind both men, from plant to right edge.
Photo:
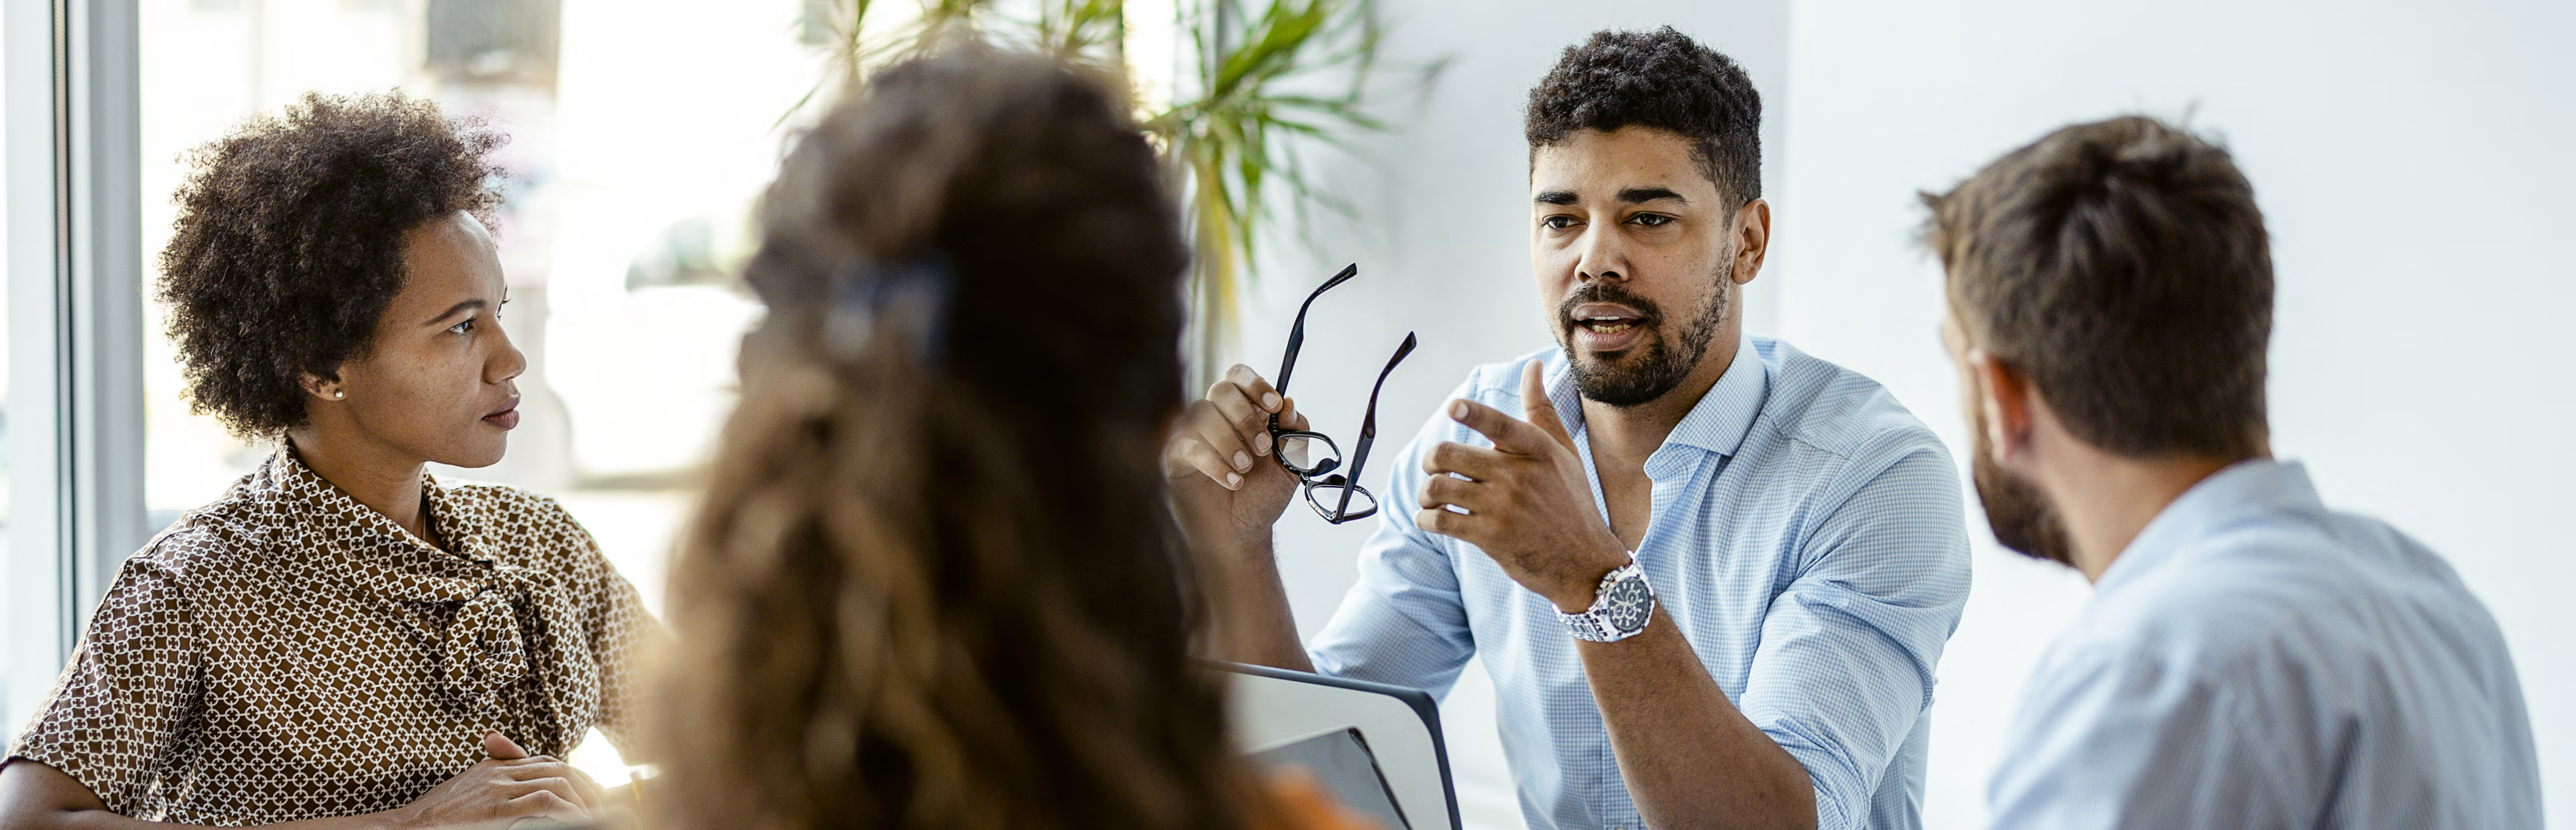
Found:
[[(1528, 281), (1520, 106), (1556, 52), (1602, 26), (1674, 23), (1765, 93), (1777, 247), (1752, 327), (1878, 376), (1963, 446), (1935, 340), (1937, 271), (1914, 191), (2076, 119), (2190, 116), (2254, 178), (2275, 232), (2275, 449), (2329, 503), (2383, 516), (2460, 567), (2504, 624), (2540, 737), (2553, 827), (2576, 827), (2576, 626), (2558, 601), (2576, 544), (2576, 10), (2543, 3), (1700, 3), (1667, 8), (1399, 0), (1391, 52), (1450, 57), (1373, 165), (1334, 165), (1363, 209), (1324, 253), (1265, 260), (1247, 309), (1275, 371), (1293, 302), (1342, 260), (1360, 281), (1316, 307), (1298, 397), (1347, 433), (1406, 330), (1381, 430), (1406, 436), (1468, 366), (1546, 345)], [(2555, 245), (2553, 245), (2555, 242)], [(1329, 263), (1327, 263), (1329, 260)], [(1383, 482), (1383, 467), (1370, 474)], [(1303, 510), (1303, 508), (1293, 508)], [(1280, 526), (1311, 634), (1352, 580), (1365, 523)], [(1978, 534), (1984, 536), (1984, 534)], [(2038, 650), (2087, 598), (2071, 572), (1984, 544), (1942, 660), (1927, 822), (1973, 827), (1999, 735)], [(1466, 817), (1517, 815), (1471, 670), (1448, 701)]]

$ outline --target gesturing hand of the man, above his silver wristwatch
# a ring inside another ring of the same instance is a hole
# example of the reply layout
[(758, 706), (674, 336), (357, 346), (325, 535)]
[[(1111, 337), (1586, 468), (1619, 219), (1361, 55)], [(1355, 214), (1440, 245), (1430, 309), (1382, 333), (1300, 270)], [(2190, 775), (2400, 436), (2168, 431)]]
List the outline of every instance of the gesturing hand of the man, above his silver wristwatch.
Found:
[(1584, 611), (1602, 575), (1628, 565), (1628, 549), (1592, 503), (1592, 479), (1548, 402), (1538, 361), (1520, 376), (1520, 400), (1528, 420), (1473, 400), (1450, 402), (1450, 418), (1494, 446), (1443, 441), (1422, 454), (1430, 479), (1414, 526), (1484, 549), (1558, 611)]

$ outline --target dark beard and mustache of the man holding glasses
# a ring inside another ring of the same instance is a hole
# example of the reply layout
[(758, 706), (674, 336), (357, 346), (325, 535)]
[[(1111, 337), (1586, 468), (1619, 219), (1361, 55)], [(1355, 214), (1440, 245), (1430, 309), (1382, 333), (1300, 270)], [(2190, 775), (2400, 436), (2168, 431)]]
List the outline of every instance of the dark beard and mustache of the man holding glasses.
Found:
[[(1574, 294), (1566, 294), (1566, 302), (1556, 304), (1556, 325), (1564, 333), (1566, 363), (1574, 366), (1574, 389), (1584, 400), (1636, 407), (1680, 387), (1690, 379), (1692, 369), (1700, 369), (1700, 358), (1708, 356), (1708, 340), (1718, 335), (1718, 322), (1726, 322), (1726, 286), (1734, 286), (1734, 276), (1736, 258), (1728, 253), (1726, 271), (1718, 273), (1708, 307), (1700, 309), (1698, 320), (1682, 325), (1680, 343), (1664, 338), (1664, 309), (1654, 299), (1631, 294), (1618, 284), (1584, 284)], [(1574, 330), (1582, 327), (1574, 320), (1574, 307), (1587, 302), (1615, 302), (1646, 314), (1636, 320), (1636, 327), (1646, 330), (1646, 340), (1631, 345), (1625, 361), (1587, 361), (1574, 351)]]

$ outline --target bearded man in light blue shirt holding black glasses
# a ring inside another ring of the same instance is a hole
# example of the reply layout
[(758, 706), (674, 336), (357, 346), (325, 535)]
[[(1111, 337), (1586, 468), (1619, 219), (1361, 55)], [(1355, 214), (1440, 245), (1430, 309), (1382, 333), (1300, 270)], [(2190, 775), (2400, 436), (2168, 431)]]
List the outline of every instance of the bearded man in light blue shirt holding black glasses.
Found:
[(1958, 469), (1870, 379), (1744, 338), (1757, 126), (1744, 72), (1672, 28), (1566, 49), (1528, 111), (1561, 348), (1476, 369), (1370, 467), (1381, 523), (1311, 650), (1270, 549), (1301, 474), (1267, 420), (1303, 418), (1244, 366), (1195, 402), (1167, 459), (1218, 644), (1432, 691), (1481, 655), (1530, 827), (1919, 825)]

